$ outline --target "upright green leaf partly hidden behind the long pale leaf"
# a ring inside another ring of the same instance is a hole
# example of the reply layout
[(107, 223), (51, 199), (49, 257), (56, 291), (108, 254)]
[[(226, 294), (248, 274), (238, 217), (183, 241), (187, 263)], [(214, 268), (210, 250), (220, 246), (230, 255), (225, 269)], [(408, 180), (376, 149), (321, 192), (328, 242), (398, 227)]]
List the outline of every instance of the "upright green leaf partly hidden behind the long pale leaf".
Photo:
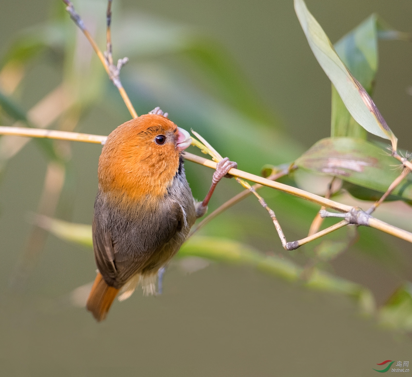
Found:
[[(372, 14), (359, 26), (335, 43), (335, 51), (360, 82), (372, 95), (378, 66), (378, 39), (410, 40), (408, 33), (393, 30), (376, 14)], [(353, 119), (332, 84), (331, 133), (334, 136), (349, 136), (366, 139), (365, 130)]]

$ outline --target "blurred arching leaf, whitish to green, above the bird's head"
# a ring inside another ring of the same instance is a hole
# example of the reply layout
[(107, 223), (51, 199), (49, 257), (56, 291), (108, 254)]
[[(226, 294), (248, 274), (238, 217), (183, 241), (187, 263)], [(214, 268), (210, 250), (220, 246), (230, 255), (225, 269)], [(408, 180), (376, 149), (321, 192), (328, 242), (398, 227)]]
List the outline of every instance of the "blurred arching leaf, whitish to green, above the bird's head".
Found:
[(209, 88), (223, 100), (253, 119), (273, 123), (272, 114), (262, 105), (239, 65), (217, 40), (193, 28), (139, 14), (114, 25), (112, 36), (116, 53), (131, 61), (147, 56), (174, 56), (186, 75), (187, 63), (191, 62), (190, 68), (194, 66), (200, 72), (200, 80), (208, 81)]

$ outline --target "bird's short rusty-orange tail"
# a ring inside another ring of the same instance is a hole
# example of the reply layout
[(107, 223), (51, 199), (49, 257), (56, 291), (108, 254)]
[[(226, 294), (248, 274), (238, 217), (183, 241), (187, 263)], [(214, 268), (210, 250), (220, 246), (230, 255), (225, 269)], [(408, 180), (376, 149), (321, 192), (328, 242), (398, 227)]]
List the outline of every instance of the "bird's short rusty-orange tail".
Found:
[(109, 286), (98, 272), (96, 279), (87, 299), (87, 310), (89, 310), (98, 322), (106, 318), (113, 300), (119, 289)]

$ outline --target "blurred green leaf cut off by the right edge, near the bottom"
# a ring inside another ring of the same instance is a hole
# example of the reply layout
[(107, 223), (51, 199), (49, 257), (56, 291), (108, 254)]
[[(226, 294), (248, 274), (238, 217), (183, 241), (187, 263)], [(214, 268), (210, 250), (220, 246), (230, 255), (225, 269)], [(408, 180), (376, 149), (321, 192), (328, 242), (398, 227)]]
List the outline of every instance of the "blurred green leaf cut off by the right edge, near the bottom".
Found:
[(412, 283), (407, 282), (379, 310), (382, 324), (400, 330), (412, 330)]

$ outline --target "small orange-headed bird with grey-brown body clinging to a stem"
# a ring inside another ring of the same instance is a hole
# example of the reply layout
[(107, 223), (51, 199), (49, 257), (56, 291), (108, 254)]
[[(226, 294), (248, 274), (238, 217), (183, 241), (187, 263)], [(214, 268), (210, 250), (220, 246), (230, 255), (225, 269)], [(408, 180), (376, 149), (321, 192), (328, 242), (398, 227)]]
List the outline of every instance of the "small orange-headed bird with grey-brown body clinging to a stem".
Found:
[(224, 158), (202, 202), (190, 190), (182, 151), (192, 139), (156, 107), (108, 136), (98, 164), (93, 248), (98, 274), (87, 300), (97, 321), (113, 300), (129, 298), (140, 283), (155, 293), (162, 268), (185, 242), (197, 218), (207, 211), (220, 179), (235, 162)]

